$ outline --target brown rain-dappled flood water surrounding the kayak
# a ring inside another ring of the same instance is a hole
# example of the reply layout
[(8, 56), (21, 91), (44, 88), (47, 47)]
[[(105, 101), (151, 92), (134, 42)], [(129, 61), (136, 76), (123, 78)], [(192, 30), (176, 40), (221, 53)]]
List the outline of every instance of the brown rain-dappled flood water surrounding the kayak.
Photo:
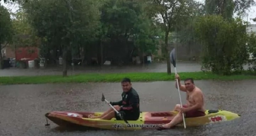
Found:
[[(79, 131), (45, 127), (44, 114), (50, 111), (104, 111), (103, 92), (108, 101), (121, 99), (120, 83), (39, 84), (0, 86), (0, 136), (255, 136), (255, 81), (195, 81), (205, 93), (207, 109), (223, 109), (241, 114), (241, 118), (200, 127), (171, 130)], [(175, 82), (132, 83), (140, 95), (141, 111), (169, 111), (180, 103)], [(185, 93), (181, 92), (182, 103)]]

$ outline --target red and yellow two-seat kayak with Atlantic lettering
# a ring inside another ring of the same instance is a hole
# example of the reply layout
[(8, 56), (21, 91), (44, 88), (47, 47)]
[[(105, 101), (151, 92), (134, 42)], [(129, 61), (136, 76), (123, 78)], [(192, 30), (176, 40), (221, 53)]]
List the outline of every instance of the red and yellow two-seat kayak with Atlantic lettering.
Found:
[[(103, 112), (77, 112), (77, 111), (53, 111), (45, 114), (49, 119), (62, 127), (83, 127), (86, 129), (108, 130), (140, 130), (156, 129), (159, 124), (169, 123), (178, 113), (177, 111), (140, 112), (140, 118), (136, 121), (91, 119), (89, 114), (100, 116)], [(230, 121), (241, 117), (239, 114), (225, 110), (205, 110), (205, 116), (185, 118), (186, 126), (199, 126), (223, 121)], [(48, 124), (48, 123), (47, 123)], [(176, 125), (183, 126), (183, 122)]]

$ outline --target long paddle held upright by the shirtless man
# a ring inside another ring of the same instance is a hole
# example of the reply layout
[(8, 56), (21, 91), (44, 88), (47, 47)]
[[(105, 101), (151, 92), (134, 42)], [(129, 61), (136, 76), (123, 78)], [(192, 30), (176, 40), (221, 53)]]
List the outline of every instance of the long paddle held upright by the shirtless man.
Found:
[[(175, 71), (175, 75), (176, 75), (177, 74), (177, 69), (176, 69), (175, 48), (173, 48), (172, 51), (170, 52), (170, 61), (171, 61), (172, 65), (173, 65), (173, 67), (174, 67), (174, 71)], [(177, 82), (177, 88), (178, 88), (178, 92), (179, 92), (179, 96), (180, 96), (180, 86), (179, 86), (179, 82), (178, 82), (177, 78), (176, 78), (176, 82)], [(180, 97), (180, 106), (182, 108), (181, 97)], [(186, 129), (184, 113), (182, 113), (182, 116), (183, 116), (184, 128)]]

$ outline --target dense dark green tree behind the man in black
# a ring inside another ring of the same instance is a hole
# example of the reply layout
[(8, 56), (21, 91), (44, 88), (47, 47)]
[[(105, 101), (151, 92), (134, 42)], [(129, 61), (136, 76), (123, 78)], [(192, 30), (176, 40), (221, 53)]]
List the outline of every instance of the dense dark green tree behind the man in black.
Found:
[[(132, 41), (130, 39), (137, 35), (137, 25), (142, 15), (142, 3), (138, 0), (107, 0), (101, 8), (101, 28), (99, 29), (100, 56), (103, 64), (103, 49), (112, 50), (108, 57), (113, 58), (120, 64), (129, 61), (132, 55)], [(108, 46), (107, 46), (108, 45)], [(116, 52), (118, 51), (118, 52)], [(117, 57), (118, 56), (118, 57)]]

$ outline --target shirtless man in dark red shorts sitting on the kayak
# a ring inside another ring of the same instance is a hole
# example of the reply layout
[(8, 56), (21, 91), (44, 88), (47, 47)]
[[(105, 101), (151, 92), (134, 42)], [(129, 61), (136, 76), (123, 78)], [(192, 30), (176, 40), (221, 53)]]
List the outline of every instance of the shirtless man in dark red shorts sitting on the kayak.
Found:
[[(177, 104), (174, 108), (174, 111), (178, 111), (179, 113), (172, 119), (172, 121), (163, 126), (159, 126), (158, 130), (169, 129), (177, 124), (183, 122), (182, 113), (184, 113), (185, 118), (189, 117), (198, 117), (204, 116), (204, 94), (198, 87), (195, 86), (194, 80), (192, 78), (185, 79), (185, 85), (180, 84), (180, 77), (177, 74), (176, 78), (179, 82), (180, 91), (187, 93), (187, 103), (182, 105)], [(175, 87), (177, 88), (177, 82), (175, 83)]]

